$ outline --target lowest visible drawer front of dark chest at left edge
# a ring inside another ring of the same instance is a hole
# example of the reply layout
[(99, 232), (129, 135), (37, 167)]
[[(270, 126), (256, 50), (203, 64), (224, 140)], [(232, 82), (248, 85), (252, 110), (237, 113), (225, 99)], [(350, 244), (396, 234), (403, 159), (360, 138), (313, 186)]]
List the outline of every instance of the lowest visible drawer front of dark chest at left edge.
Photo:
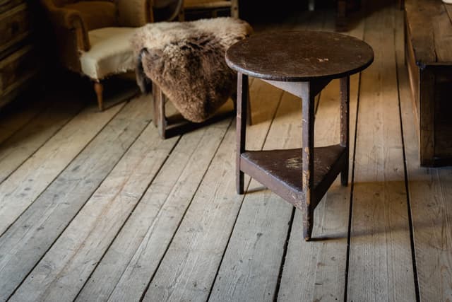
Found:
[(6, 95), (36, 74), (35, 52), (31, 45), (0, 61), (0, 96)]

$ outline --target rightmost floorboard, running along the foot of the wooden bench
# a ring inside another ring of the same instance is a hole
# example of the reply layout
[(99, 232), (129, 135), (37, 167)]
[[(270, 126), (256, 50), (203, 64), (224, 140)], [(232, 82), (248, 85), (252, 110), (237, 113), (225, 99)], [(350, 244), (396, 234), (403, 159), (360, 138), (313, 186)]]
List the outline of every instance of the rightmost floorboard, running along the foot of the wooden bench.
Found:
[(452, 301), (452, 168), (420, 167), (412, 93), (403, 64), (403, 23), (396, 25), (400, 109), (420, 301)]

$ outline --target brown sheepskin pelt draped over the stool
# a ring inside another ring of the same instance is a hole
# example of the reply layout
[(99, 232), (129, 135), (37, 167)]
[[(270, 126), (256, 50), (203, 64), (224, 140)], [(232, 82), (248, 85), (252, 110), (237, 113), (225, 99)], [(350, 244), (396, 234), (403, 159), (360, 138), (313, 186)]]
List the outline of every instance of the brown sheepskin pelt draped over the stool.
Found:
[(148, 93), (153, 81), (186, 120), (203, 122), (234, 93), (237, 75), (225, 52), (251, 32), (248, 23), (229, 17), (138, 28), (131, 40), (138, 86)]

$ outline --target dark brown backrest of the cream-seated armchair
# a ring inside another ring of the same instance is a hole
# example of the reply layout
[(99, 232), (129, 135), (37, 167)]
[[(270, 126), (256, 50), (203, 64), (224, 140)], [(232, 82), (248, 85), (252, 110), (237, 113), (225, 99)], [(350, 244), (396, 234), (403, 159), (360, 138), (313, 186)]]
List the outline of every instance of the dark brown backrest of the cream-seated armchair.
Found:
[(109, 1), (78, 1), (66, 4), (65, 8), (79, 11), (86, 30), (117, 26), (116, 6)]

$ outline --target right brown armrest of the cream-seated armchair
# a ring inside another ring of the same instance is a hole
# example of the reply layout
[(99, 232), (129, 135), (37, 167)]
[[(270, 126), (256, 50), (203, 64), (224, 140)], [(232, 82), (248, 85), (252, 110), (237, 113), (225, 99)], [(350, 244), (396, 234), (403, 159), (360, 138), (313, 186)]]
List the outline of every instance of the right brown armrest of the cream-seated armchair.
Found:
[(154, 22), (153, 0), (117, 0), (121, 26), (138, 27)]

